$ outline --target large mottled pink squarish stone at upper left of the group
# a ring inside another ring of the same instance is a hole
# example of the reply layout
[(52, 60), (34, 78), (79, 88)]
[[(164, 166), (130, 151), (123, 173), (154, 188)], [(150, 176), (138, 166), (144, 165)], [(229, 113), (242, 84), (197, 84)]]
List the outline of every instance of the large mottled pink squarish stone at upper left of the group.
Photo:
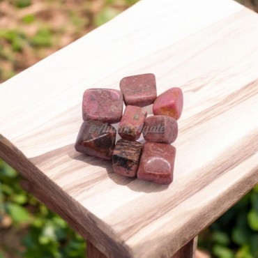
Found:
[(103, 123), (117, 123), (123, 114), (123, 95), (116, 89), (87, 89), (82, 100), (82, 117)]

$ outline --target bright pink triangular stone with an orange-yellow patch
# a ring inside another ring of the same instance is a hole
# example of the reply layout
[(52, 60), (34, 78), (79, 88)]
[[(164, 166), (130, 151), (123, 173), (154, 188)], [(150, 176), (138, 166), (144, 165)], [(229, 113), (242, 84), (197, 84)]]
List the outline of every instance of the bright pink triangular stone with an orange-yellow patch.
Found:
[(171, 88), (156, 98), (153, 114), (172, 116), (178, 120), (183, 109), (183, 92), (180, 88)]

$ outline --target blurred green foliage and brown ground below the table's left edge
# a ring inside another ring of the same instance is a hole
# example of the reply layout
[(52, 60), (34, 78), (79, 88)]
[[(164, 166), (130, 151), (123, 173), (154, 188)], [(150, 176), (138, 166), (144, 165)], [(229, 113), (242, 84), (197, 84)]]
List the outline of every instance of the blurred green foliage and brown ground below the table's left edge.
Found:
[(84, 239), (22, 190), (19, 180), (0, 160), (0, 257), (85, 257)]

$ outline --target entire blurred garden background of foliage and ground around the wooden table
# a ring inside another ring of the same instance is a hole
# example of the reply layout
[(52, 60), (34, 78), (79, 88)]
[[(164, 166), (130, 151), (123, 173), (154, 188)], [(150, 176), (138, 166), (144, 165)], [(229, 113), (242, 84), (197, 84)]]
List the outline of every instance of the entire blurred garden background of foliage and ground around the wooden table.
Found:
[[(136, 2), (0, 1), (0, 82)], [(238, 2), (257, 10), (257, 1)], [(0, 258), (85, 257), (84, 240), (24, 192), (19, 180), (17, 173), (0, 160)], [(258, 258), (258, 187), (199, 235), (199, 248), (218, 258)]]

